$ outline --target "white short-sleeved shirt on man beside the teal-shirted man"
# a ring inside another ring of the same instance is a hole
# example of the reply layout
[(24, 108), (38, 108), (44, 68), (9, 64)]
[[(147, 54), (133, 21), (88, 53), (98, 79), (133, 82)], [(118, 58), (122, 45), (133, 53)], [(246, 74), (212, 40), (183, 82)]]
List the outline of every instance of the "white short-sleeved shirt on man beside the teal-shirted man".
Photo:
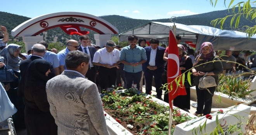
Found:
[(120, 51), (116, 48), (112, 52), (107, 52), (106, 47), (104, 47), (95, 52), (93, 56), (93, 62), (100, 64), (109, 64), (111, 66), (117, 63), (119, 59)]

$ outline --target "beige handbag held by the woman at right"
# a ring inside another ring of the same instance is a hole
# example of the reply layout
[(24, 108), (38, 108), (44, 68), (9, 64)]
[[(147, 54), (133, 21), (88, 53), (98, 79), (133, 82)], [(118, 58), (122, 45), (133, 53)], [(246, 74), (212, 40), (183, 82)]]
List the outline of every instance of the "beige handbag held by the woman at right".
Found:
[(208, 72), (206, 72), (204, 74), (204, 76), (202, 78), (199, 79), (199, 85), (198, 88), (199, 89), (207, 89), (208, 92), (213, 95), (210, 91), (209, 91), (209, 87), (214, 87), (217, 86), (215, 79), (213, 76), (207, 76)]

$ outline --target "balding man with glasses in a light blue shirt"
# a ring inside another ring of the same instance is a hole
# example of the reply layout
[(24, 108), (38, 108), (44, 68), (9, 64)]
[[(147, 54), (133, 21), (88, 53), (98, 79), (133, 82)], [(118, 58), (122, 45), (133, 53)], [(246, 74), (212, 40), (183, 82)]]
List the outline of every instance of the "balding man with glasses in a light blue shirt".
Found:
[(61, 50), (57, 54), (60, 61), (60, 66), (59, 66), (60, 73), (62, 73), (65, 69), (67, 69), (65, 65), (65, 57), (67, 53), (69, 53), (70, 51), (76, 51), (79, 48), (78, 42), (73, 39), (68, 40), (66, 43), (66, 46), (67, 46), (66, 49)]

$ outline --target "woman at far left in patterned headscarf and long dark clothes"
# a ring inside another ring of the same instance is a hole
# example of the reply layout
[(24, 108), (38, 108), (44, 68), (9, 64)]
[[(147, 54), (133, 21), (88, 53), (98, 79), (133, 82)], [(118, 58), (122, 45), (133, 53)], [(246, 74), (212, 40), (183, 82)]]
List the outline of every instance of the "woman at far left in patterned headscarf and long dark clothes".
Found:
[[(21, 60), (18, 58), (21, 51), (21, 46), (17, 44), (9, 44), (1, 52), (0, 56), (3, 57), (3, 63), (10, 69), (14, 71), (16, 76), (20, 78), (19, 64)], [(17, 96), (17, 87), (19, 85), (19, 79), (14, 82), (4, 84), (7, 95), (10, 101), (17, 108), (17, 113), (15, 113), (12, 118), (14, 121), (14, 126), (16, 129), (24, 129), (24, 101), (22, 97)]]

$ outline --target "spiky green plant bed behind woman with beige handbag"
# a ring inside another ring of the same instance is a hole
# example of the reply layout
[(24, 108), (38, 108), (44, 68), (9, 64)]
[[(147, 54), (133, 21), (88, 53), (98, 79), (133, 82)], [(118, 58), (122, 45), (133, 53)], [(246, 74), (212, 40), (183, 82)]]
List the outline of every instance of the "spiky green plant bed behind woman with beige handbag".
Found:
[(242, 79), (241, 76), (224, 76), (220, 75), (216, 91), (227, 94), (232, 97), (245, 98), (255, 90), (249, 90), (251, 86), (251, 79)]

